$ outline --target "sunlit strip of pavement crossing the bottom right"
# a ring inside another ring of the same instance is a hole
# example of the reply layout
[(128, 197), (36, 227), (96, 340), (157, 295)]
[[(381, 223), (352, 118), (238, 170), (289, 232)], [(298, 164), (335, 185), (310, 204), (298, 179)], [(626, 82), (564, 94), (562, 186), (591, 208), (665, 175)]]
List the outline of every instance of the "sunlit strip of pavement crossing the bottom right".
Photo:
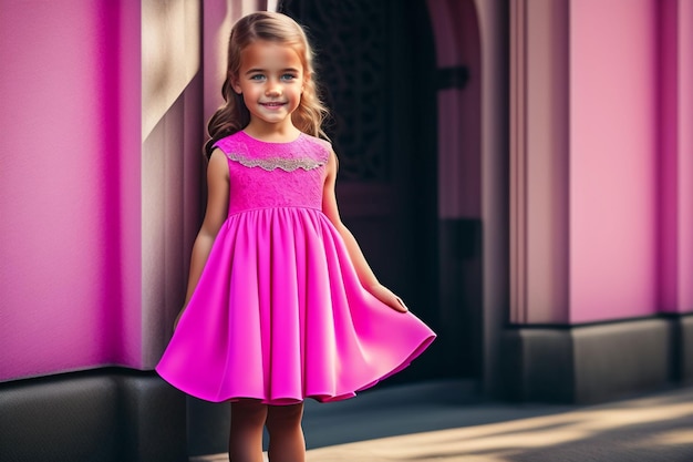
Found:
[[(693, 390), (316, 449), (309, 462), (692, 462)], [(526, 409), (525, 409), (526, 410)], [(470, 405), (469, 415), (503, 413)], [(415, 418), (412, 415), (412, 418)], [(465, 419), (467, 420), (467, 419)]]

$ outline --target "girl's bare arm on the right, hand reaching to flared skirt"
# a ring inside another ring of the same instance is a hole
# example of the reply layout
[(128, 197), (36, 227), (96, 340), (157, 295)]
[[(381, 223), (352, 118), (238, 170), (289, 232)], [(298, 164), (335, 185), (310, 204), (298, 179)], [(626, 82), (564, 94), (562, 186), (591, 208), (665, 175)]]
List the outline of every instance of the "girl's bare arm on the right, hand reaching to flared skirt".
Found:
[(339, 234), (342, 236), (342, 239), (346, 245), (346, 250), (349, 251), (349, 257), (351, 258), (351, 261), (356, 269), (356, 275), (359, 276), (361, 285), (369, 292), (375, 296), (375, 298), (390, 306), (392, 309), (402, 312), (407, 311), (407, 308), (402, 299), (377, 281), (377, 278), (375, 277), (373, 270), (365, 260), (363, 251), (361, 251), (356, 239), (342, 223), (342, 219), (339, 215), (339, 208), (337, 206), (337, 196), (334, 195), (335, 181), (337, 156), (334, 155), (334, 153), (331, 153), (330, 160), (328, 161), (328, 175), (324, 182), (324, 188), (322, 193), (322, 212), (330, 219), (330, 222), (332, 222)]

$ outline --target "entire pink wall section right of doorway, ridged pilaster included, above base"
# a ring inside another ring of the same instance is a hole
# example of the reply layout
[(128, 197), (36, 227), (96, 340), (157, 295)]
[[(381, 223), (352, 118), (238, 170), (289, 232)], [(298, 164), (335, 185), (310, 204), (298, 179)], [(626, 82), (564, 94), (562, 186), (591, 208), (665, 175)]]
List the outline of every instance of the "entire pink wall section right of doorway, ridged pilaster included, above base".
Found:
[(510, 7), (510, 320), (691, 311), (691, 2)]

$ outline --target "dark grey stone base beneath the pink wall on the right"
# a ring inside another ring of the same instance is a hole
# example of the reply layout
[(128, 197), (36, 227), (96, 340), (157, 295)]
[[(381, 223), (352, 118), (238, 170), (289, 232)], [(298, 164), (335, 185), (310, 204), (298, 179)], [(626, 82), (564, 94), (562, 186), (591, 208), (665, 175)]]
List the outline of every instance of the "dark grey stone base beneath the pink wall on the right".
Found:
[(693, 316), (589, 326), (508, 327), (503, 398), (593, 403), (693, 377)]

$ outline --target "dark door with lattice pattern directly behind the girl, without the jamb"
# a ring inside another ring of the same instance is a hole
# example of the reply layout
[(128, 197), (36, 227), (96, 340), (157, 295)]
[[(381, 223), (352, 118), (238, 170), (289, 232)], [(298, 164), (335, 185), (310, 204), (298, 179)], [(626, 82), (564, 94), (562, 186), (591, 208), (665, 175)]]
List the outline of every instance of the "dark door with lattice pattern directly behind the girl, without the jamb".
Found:
[[(316, 49), (342, 219), (379, 279), (437, 330), (435, 52), (425, 2), (286, 0), (279, 10), (307, 28)], [(445, 353), (434, 351), (387, 382), (447, 376)]]

